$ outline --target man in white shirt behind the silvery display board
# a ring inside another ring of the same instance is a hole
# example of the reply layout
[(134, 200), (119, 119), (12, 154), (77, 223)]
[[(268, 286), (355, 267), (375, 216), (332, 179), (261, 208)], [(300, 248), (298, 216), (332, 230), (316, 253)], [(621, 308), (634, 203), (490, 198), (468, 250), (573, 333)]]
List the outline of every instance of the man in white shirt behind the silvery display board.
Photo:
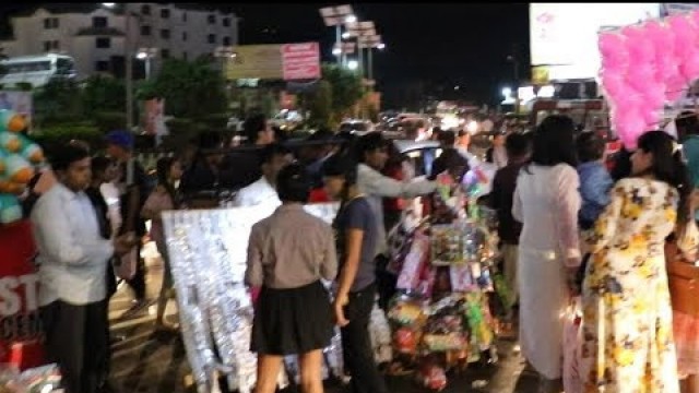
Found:
[(266, 145), (262, 151), (262, 177), (238, 191), (234, 206), (281, 205), (276, 194), (276, 175), (293, 159), (292, 152), (285, 146), (276, 143)]

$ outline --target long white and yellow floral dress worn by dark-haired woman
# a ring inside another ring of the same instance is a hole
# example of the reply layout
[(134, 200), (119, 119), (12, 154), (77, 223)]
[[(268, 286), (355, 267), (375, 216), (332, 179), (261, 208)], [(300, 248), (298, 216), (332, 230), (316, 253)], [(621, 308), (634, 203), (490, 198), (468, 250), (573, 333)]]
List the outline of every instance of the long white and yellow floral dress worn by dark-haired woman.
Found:
[(584, 392), (679, 392), (664, 254), (678, 201), (665, 182), (624, 179), (595, 224), (582, 300)]

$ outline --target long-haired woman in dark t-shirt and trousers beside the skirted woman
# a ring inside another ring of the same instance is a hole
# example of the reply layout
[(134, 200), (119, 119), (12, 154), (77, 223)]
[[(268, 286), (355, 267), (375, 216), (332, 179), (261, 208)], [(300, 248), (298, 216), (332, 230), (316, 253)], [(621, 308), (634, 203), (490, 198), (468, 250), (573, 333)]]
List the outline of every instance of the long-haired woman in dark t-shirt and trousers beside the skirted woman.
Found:
[(369, 337), (369, 319), (377, 295), (376, 218), (357, 188), (356, 162), (345, 155), (333, 155), (323, 163), (322, 176), (328, 194), (340, 201), (334, 223), (340, 277), (333, 306), (352, 376), (352, 392), (386, 393), (386, 382), (375, 362)]

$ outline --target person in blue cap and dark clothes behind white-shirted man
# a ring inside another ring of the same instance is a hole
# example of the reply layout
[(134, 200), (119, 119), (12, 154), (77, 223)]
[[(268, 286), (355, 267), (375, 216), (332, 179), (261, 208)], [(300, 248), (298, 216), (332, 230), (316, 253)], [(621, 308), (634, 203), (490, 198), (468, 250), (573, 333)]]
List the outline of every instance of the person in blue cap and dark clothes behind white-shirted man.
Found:
[[(141, 164), (133, 157), (133, 134), (125, 130), (109, 132), (107, 134), (107, 154), (119, 166), (120, 175), (117, 181), (121, 205), (119, 234), (133, 231), (141, 239), (146, 233), (145, 221), (141, 217), (141, 209), (149, 196), (149, 180)], [(132, 278), (127, 279), (134, 294), (132, 308), (134, 311), (146, 305), (145, 266), (139, 257), (141, 241), (135, 247), (135, 274)]]

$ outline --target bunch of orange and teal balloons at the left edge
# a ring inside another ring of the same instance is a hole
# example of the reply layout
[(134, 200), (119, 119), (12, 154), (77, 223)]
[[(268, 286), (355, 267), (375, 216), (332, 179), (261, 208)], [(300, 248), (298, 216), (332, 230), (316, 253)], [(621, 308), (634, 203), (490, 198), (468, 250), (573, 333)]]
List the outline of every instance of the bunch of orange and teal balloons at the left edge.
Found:
[(22, 219), (17, 196), (44, 164), (42, 148), (21, 133), (25, 128), (23, 116), (0, 110), (0, 225)]

